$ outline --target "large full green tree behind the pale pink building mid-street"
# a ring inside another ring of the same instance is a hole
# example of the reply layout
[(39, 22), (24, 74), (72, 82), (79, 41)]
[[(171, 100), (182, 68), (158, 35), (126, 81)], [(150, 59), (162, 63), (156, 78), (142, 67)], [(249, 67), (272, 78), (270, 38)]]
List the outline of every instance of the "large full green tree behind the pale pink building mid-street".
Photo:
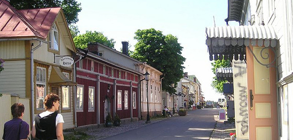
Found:
[(186, 60), (181, 55), (183, 47), (178, 43), (178, 38), (163, 35), (161, 31), (151, 28), (137, 30), (134, 39), (138, 42), (131, 56), (163, 72), (162, 89), (174, 93), (171, 84), (176, 84), (183, 78), (183, 64)]

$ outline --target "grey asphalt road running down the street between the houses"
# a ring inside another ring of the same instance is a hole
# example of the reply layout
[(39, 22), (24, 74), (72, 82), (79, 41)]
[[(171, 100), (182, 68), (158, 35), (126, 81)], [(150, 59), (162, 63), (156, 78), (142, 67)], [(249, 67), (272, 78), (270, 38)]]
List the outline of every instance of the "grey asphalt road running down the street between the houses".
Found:
[(217, 115), (218, 110), (212, 108), (191, 110), (187, 116), (168, 118), (103, 140), (209, 140)]

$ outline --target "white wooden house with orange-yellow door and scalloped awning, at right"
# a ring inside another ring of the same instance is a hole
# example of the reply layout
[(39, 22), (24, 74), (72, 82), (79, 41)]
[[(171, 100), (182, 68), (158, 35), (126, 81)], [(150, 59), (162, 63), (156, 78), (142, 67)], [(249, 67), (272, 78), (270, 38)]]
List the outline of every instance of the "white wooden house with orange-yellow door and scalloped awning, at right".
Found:
[(228, 0), (241, 26), (206, 29), (209, 59), (234, 59), (237, 140), (293, 139), (292, 15), (292, 0)]

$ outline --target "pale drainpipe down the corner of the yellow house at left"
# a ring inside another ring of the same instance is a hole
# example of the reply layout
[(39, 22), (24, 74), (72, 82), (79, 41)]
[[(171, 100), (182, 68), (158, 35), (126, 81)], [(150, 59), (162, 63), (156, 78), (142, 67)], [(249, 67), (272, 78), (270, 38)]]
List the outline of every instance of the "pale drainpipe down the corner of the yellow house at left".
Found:
[[(31, 125), (34, 123), (34, 116), (35, 116), (35, 92), (34, 92), (34, 51), (36, 51), (38, 48), (40, 48), (42, 45), (42, 41), (40, 41), (40, 44), (36, 46), (35, 48), (32, 48), (31, 50)], [(34, 44), (32, 43), (33, 47)]]

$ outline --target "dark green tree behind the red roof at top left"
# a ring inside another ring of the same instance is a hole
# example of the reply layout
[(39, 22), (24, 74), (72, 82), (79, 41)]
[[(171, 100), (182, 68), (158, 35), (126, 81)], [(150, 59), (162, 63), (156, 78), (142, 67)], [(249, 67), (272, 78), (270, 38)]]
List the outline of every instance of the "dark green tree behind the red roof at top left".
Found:
[(16, 9), (62, 7), (68, 24), (76, 23), (82, 10), (81, 3), (75, 0), (10, 0), (10, 4)]

